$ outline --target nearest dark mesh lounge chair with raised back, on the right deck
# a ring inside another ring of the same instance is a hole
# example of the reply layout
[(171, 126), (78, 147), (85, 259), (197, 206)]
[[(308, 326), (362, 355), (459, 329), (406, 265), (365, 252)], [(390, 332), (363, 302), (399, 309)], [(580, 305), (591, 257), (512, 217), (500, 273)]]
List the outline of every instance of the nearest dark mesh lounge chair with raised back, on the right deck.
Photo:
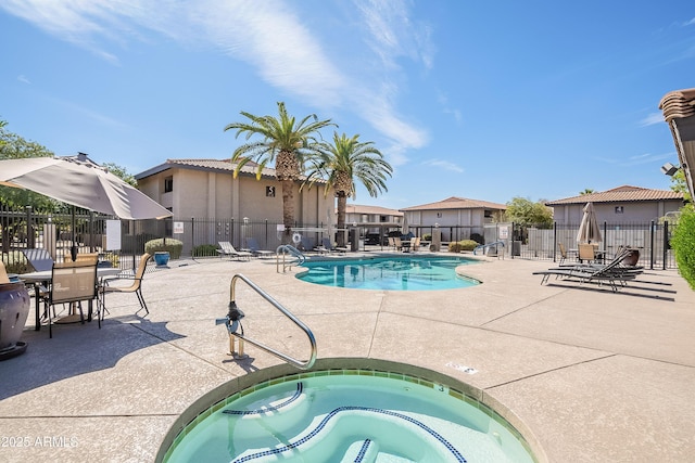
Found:
[(616, 292), (619, 286), (624, 286), (628, 281), (634, 280), (643, 272), (641, 268), (624, 267), (621, 265), (622, 259), (627, 256), (627, 252), (622, 250), (606, 265), (572, 265), (558, 268), (552, 268), (544, 271), (533, 272), (535, 275), (543, 275), (541, 284), (547, 283), (551, 275), (563, 278), (564, 280), (576, 280), (582, 283), (608, 283), (610, 288)]

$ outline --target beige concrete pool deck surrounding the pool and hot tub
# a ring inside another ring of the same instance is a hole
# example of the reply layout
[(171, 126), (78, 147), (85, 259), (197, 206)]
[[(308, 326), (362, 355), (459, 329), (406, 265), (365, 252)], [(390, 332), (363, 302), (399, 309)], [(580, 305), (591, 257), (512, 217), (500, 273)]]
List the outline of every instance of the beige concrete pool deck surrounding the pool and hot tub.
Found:
[[(675, 294), (541, 286), (532, 272), (548, 267), (484, 259), (464, 270), (483, 282), (475, 287), (384, 292), (305, 283), (296, 268), (276, 272), (275, 259), (172, 261), (146, 275), (144, 318), (134, 294), (109, 295), (101, 330), (59, 325), (49, 339), (31, 311), (26, 352), (0, 362), (0, 461), (153, 461), (195, 399), (280, 363), (250, 344), (247, 360), (227, 355), (215, 319), (242, 273), (312, 329), (319, 359), (397, 361), (482, 389), (532, 432), (542, 461), (691, 462), (695, 292), (674, 270), (641, 280)], [(248, 336), (308, 357), (306, 337), (243, 282), (236, 300)]]

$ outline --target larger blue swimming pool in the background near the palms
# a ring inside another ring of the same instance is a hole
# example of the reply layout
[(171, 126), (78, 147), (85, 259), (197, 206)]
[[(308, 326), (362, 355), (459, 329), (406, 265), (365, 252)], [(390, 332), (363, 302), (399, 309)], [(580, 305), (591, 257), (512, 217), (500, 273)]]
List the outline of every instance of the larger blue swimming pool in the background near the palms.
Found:
[(300, 280), (357, 290), (433, 291), (469, 287), (480, 282), (456, 273), (478, 262), (465, 257), (375, 257), (306, 261)]

